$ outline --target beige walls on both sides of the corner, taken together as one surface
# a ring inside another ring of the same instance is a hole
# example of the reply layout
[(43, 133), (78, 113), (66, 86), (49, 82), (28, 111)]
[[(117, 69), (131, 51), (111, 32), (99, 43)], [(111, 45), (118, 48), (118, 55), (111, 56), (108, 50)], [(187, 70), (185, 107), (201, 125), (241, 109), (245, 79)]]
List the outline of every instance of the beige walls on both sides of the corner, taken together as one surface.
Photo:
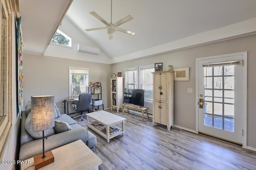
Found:
[[(89, 68), (89, 81), (102, 83), (103, 103), (105, 107), (110, 107), (109, 76), (112, 72), (122, 72), (124, 75), (124, 68), (163, 62), (164, 70), (168, 69), (168, 64), (174, 68), (190, 67), (190, 81), (174, 82), (174, 125), (195, 131), (196, 58), (247, 51), (247, 145), (256, 148), (256, 90), (253, 90), (256, 87), (255, 47), (256, 35), (250, 35), (112, 65), (24, 54), (24, 105), (32, 95), (54, 94), (57, 105), (61, 107), (62, 100), (68, 98), (68, 66), (74, 66)], [(193, 93), (187, 93), (187, 88), (192, 88)], [(152, 104), (146, 106), (152, 108)]]

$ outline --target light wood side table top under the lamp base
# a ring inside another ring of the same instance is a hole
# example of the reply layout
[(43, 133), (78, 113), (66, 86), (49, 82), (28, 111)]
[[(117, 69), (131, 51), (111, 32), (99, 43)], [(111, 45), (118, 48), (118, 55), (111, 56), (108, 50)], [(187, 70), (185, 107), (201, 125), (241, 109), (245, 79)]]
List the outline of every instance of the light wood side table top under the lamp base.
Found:
[[(48, 164), (40, 170), (98, 170), (102, 160), (88, 148), (81, 140), (69, 143), (52, 150), (54, 162)], [(21, 170), (34, 170), (34, 158), (27, 159), (30, 164), (21, 164)]]

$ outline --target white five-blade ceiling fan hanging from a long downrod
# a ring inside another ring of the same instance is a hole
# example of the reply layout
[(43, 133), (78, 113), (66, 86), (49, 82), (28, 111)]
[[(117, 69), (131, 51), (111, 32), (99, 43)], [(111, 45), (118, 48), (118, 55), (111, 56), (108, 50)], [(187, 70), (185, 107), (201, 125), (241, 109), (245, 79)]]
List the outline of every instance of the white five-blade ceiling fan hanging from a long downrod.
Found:
[(99, 16), (96, 12), (90, 12), (94, 17), (96, 17), (98, 20), (102, 21), (106, 27), (98, 27), (98, 28), (91, 28), (91, 29), (85, 29), (86, 31), (94, 31), (99, 29), (107, 29), (108, 30), (108, 39), (113, 39), (113, 35), (116, 33), (116, 31), (120, 31), (123, 33), (128, 33), (130, 35), (134, 35), (135, 33), (132, 31), (128, 31), (126, 29), (119, 28), (118, 26), (126, 23), (127, 21), (130, 21), (133, 19), (131, 15), (128, 15), (121, 20), (117, 21), (116, 23), (112, 23), (112, 0), (111, 0), (111, 21), (108, 23), (106, 20), (104, 20), (101, 16)]

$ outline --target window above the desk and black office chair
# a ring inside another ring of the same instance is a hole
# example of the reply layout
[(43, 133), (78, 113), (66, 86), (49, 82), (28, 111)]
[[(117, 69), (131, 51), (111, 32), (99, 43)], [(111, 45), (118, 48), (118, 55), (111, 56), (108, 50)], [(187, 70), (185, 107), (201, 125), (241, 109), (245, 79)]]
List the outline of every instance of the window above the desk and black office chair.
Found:
[(69, 67), (69, 96), (78, 99), (80, 93), (88, 90), (88, 68)]

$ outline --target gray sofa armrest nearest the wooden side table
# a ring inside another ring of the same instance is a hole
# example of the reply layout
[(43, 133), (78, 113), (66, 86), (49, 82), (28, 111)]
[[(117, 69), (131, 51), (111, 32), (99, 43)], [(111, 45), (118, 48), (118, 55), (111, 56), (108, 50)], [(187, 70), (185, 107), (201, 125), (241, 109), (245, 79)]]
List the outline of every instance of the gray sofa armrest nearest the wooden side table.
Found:
[[(86, 128), (80, 127), (47, 137), (47, 139), (44, 139), (44, 150), (47, 152), (79, 139), (81, 139), (85, 144), (86, 141), (88, 141), (88, 131)], [(42, 154), (42, 146), (42, 139), (24, 143), (20, 147), (19, 160), (26, 160), (38, 154)]]

